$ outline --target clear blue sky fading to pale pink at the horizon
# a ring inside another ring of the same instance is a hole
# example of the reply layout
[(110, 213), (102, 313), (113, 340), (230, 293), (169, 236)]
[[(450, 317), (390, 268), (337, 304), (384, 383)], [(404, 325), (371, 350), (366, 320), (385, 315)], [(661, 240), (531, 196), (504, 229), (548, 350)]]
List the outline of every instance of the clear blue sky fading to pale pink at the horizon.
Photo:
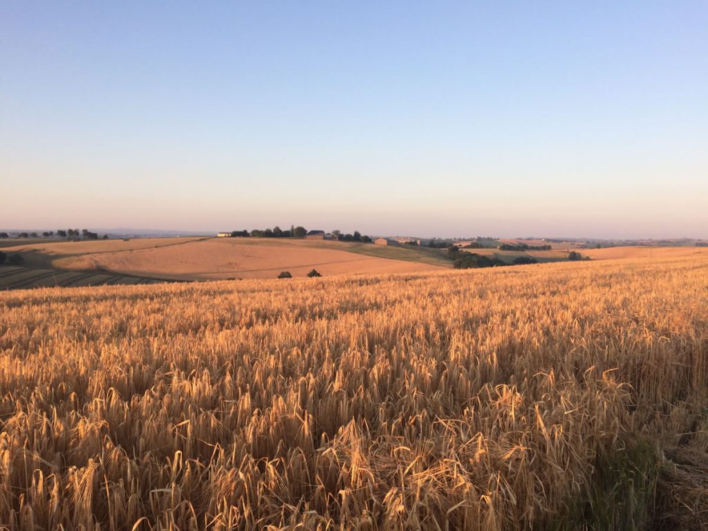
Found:
[(708, 237), (708, 3), (0, 4), (0, 227)]

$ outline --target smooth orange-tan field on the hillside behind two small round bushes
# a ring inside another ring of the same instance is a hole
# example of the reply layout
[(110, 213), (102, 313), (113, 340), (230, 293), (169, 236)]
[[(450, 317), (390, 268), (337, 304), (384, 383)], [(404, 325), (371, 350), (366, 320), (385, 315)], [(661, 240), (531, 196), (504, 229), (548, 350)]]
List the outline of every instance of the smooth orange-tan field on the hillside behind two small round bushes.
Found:
[(350, 253), (346, 249), (346, 244), (336, 242), (212, 238), (128, 252), (91, 253), (56, 263), (63, 268), (101, 269), (181, 280), (275, 278), (283, 270), (295, 277), (304, 277), (313, 268), (326, 276), (416, 273), (440, 268), (427, 263)]

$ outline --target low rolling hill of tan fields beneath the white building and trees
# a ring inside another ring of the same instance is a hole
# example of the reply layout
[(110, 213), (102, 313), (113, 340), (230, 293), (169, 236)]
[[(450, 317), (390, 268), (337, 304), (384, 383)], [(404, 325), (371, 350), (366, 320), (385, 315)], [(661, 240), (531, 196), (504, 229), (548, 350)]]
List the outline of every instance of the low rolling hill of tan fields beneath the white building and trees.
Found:
[[(25, 266), (42, 270), (42, 279), (45, 279), (42, 285), (51, 282), (52, 270), (57, 274), (68, 270), (74, 273), (127, 275), (130, 277), (127, 283), (134, 283), (135, 278), (275, 278), (283, 270), (295, 277), (303, 277), (312, 269), (325, 276), (419, 273), (449, 268), (451, 265), (442, 252), (429, 249), (256, 238), (40, 242), (13, 246), (6, 252), (20, 252), (25, 258)], [(25, 274), (31, 277), (31, 273)], [(0, 286), (3, 285), (0, 280)], [(20, 282), (14, 282), (14, 285), (31, 287)]]

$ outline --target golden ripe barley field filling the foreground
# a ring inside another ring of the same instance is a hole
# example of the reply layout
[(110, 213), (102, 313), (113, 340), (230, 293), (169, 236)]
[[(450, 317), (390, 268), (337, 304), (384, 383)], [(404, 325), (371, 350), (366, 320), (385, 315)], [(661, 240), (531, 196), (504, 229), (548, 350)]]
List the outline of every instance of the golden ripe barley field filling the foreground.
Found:
[(6, 530), (700, 529), (708, 253), (0, 293)]

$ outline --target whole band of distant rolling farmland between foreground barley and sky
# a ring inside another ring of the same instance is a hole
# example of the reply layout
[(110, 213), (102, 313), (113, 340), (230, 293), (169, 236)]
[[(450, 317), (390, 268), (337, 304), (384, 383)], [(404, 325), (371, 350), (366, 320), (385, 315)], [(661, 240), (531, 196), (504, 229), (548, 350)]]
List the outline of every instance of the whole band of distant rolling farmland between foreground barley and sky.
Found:
[[(406, 242), (399, 244), (393, 236), (385, 239), (396, 245), (384, 246), (370, 238), (362, 242), (252, 236), (115, 239), (108, 233), (104, 239), (91, 231), (75, 238), (4, 234), (8, 237), (0, 238), (0, 289), (276, 278), (284, 271), (292, 277), (313, 270), (325, 276), (421, 273), (569, 259), (678, 257), (708, 250), (704, 242), (688, 240), (607, 246), (609, 242), (561, 239), (398, 238)], [(468, 254), (490, 263), (466, 262)]]

